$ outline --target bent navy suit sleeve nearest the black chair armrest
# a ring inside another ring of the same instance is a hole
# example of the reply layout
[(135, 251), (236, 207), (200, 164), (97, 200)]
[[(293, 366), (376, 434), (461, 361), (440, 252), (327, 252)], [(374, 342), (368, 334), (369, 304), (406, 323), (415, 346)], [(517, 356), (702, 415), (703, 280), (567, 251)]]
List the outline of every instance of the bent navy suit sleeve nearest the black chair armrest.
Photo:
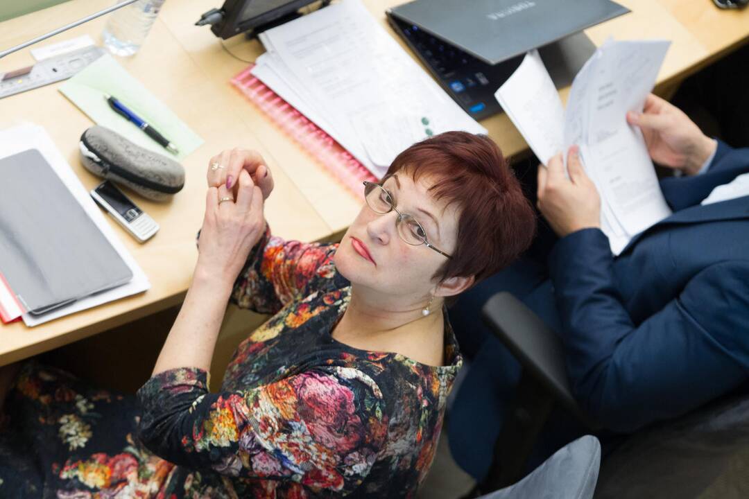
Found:
[(560, 239), (549, 263), (572, 390), (605, 427), (632, 432), (747, 379), (749, 260), (707, 267), (640, 324), (613, 283), (600, 230)]

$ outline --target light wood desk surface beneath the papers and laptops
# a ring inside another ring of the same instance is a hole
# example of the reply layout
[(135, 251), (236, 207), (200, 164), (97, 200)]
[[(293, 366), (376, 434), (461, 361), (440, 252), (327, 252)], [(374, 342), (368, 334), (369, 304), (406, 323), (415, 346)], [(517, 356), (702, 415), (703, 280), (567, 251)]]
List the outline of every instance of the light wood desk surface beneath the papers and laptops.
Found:
[[(386, 8), (402, 0), (364, 2), (404, 46), (384, 16)], [(203, 214), (207, 159), (222, 149), (235, 146), (257, 149), (267, 159), (276, 180), (276, 191), (267, 201), (266, 217), (279, 236), (327, 239), (342, 233), (360, 209), (359, 198), (339, 186), (291, 138), (231, 88), (228, 80), (247, 63), (222, 49), (207, 27), (193, 25), (201, 13), (221, 3), (221, 0), (167, 1), (141, 51), (132, 58), (118, 58), (120, 64), (204, 139), (204, 144), (184, 160), (186, 185), (172, 202), (152, 203), (133, 196), (161, 225), (154, 239), (139, 245), (115, 227), (150, 278), (151, 290), (36, 328), (26, 328), (21, 323), (0, 325), (0, 365), (180, 303), (197, 257), (194, 237)], [(586, 34), (597, 45), (609, 36), (619, 40), (671, 40), (672, 46), (658, 75), (658, 89), (679, 82), (749, 39), (749, 9), (718, 10), (709, 0), (620, 0), (620, 3), (632, 12), (589, 28)], [(2, 22), (0, 48), (21, 43), (109, 4), (112, 0), (71, 0)], [(46, 43), (81, 34), (90, 34), (98, 42), (105, 22), (106, 18), (96, 19)], [(225, 46), (246, 61), (253, 61), (263, 52), (260, 43), (243, 37), (234, 37)], [(28, 49), (16, 52), (0, 59), (0, 73), (32, 62)], [(99, 179), (80, 165), (77, 141), (92, 123), (58, 93), (59, 85), (0, 100), (0, 129), (22, 121), (44, 126), (84, 186), (91, 189)], [(568, 89), (560, 92), (564, 99), (567, 93)], [(482, 124), (507, 155), (520, 155), (527, 150), (506, 115), (491, 117)]]

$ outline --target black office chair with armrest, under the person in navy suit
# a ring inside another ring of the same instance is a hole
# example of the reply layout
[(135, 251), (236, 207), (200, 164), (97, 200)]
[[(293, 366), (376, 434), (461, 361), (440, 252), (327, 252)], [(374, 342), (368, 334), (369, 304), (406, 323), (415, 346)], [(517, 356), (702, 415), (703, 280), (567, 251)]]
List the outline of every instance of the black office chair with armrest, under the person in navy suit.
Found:
[[(533, 445), (559, 404), (591, 432), (600, 429), (572, 397), (562, 342), (509, 293), (483, 319), (521, 364), (521, 381), (479, 490), (522, 477)], [(748, 331), (749, 334), (749, 331)], [(699, 366), (695, 366), (699, 369)], [(595, 498), (749, 497), (749, 396), (722, 397), (676, 420), (642, 429), (604, 459)]]

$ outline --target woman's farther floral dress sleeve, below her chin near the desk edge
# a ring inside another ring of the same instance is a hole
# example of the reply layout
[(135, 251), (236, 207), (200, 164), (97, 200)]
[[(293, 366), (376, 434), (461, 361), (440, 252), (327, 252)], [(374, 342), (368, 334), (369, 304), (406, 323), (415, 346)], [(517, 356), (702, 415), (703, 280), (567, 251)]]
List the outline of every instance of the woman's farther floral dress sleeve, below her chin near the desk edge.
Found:
[(337, 245), (284, 241), (264, 236), (252, 248), (247, 263), (234, 282), (231, 303), (259, 313), (276, 313), (296, 298), (315, 277), (333, 276)]

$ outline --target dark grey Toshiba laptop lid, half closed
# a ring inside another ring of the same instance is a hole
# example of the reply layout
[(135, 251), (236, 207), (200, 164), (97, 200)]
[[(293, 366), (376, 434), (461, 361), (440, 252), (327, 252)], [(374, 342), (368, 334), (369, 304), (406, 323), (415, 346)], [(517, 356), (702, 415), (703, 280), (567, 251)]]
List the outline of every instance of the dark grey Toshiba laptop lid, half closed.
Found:
[(487, 64), (628, 12), (610, 0), (415, 0), (389, 10)]

